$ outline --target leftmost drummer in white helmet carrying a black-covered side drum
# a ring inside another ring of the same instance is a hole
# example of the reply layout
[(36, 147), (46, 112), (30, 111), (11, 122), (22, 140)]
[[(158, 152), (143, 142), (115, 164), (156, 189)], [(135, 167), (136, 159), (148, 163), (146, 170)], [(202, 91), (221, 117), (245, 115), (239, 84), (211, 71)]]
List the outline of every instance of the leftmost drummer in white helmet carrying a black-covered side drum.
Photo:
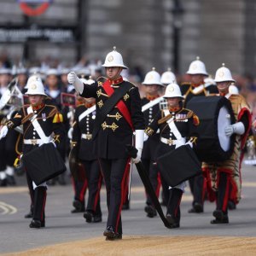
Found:
[[(63, 117), (57, 108), (44, 103), (44, 84), (38, 75), (32, 75), (27, 81), (27, 92), (30, 105), (25, 105), (15, 114), (13, 119), (9, 119), (3, 126), (0, 126), (0, 140), (6, 137), (9, 131), (16, 126), (23, 125), (23, 154), (30, 153), (35, 148), (46, 142), (58, 145), (64, 136), (62, 126)], [(54, 136), (52, 136), (54, 134)], [(45, 165), (44, 162), (35, 162), (34, 166)], [(26, 166), (25, 166), (26, 168)], [(36, 185), (32, 181), (31, 175), (26, 172), (26, 178), (33, 205), (32, 222), (30, 228), (44, 228), (45, 216), (44, 207), (46, 202), (46, 183)], [(33, 190), (32, 190), (33, 188)]]

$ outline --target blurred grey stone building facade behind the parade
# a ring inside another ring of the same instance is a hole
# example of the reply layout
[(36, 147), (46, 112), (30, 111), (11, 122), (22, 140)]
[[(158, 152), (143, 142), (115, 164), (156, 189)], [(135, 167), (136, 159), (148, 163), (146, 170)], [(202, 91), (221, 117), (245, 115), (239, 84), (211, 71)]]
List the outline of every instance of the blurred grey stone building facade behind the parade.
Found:
[[(29, 18), (30, 23), (79, 26), (79, 42), (59, 44), (29, 43), (30, 58), (54, 56), (75, 63), (79, 56), (104, 60), (113, 45), (125, 63), (151, 67), (161, 73), (173, 62), (174, 0), (55, 0), (44, 15)], [(222, 62), (233, 73), (254, 73), (256, 62), (256, 1), (179, 0), (183, 6), (180, 29), (180, 73), (199, 55), (214, 74)], [(15, 0), (2, 0), (0, 26), (22, 23)], [(27, 19), (26, 19), (27, 20)], [(1, 38), (1, 32), (0, 32)], [(1, 43), (9, 55), (22, 55), (24, 44)]]

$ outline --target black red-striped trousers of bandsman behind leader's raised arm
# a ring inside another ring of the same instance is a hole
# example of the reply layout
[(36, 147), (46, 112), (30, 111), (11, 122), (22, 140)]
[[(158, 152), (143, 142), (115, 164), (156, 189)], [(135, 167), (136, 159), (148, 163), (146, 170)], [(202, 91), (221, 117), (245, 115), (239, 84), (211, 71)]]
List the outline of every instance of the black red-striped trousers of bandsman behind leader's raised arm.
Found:
[(86, 211), (102, 215), (100, 192), (102, 188), (102, 172), (98, 160), (83, 161), (88, 180), (88, 201)]

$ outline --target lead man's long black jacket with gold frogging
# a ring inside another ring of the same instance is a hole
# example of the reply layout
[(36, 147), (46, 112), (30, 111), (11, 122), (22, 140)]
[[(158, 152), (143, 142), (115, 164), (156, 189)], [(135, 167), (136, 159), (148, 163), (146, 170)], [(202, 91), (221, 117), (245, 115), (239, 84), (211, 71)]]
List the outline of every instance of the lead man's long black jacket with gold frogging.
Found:
[[(104, 104), (108, 104), (109, 96), (102, 87), (106, 80), (105, 78), (99, 78), (94, 84), (84, 84), (84, 91), (81, 96), (96, 98), (96, 113), (101, 111)], [(131, 114), (134, 130), (144, 130), (142, 105), (137, 87), (124, 81), (122, 78), (110, 82), (113, 90), (119, 90), (125, 83), (130, 85), (130, 90), (127, 91), (120, 101), (125, 103), (126, 108)], [(132, 144), (132, 134), (131, 126), (125, 120), (123, 114), (120, 113), (119, 108), (115, 106), (101, 124), (94, 142), (94, 153), (103, 159), (127, 158), (125, 145)]]

